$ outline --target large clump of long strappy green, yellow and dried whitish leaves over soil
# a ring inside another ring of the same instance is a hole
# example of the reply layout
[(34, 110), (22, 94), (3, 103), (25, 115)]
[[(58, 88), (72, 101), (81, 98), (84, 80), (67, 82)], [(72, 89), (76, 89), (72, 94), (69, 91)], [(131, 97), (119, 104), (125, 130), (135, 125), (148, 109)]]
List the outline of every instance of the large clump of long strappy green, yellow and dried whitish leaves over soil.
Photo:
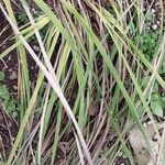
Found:
[[(160, 75), (165, 47), (163, 22), (156, 32), (142, 28), (147, 16), (138, 0), (62, 0), (54, 9), (34, 0), (42, 11), (35, 16), (30, 6), (21, 2), (24, 15), (18, 18), (10, 0), (0, 2), (15, 36), (0, 57), (16, 48), (21, 64), (16, 100), (20, 128), (2, 162), (99, 165), (113, 164), (122, 153), (120, 156), (135, 164), (127, 140), (130, 130), (136, 125), (150, 145), (142, 124), (148, 118), (160, 136), (154, 117), (163, 117), (164, 109), (164, 98), (155, 95), (165, 88)], [(136, 22), (130, 32), (132, 20)], [(21, 21), (23, 28), (19, 28)], [(40, 54), (31, 47), (32, 37)], [(40, 69), (33, 88), (28, 54)]]

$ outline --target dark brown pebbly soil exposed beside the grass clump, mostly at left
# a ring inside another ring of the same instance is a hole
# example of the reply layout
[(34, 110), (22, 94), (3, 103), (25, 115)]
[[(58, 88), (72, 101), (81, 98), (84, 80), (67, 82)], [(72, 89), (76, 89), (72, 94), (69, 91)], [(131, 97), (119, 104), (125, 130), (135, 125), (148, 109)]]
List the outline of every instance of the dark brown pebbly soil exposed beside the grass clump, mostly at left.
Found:
[[(47, 3), (52, 8), (55, 8), (55, 4), (51, 0), (47, 0)], [(147, 6), (148, 3), (146, 3), (146, 7)], [(35, 8), (33, 3), (31, 3), (31, 7)], [(158, 11), (155, 4), (153, 4), (153, 8), (155, 12)], [(15, 11), (18, 10), (19, 9), (15, 8)], [(153, 20), (153, 24), (160, 21), (157, 19), (158, 19), (158, 14)], [(13, 42), (10, 37), (12, 35), (12, 30), (9, 26), (1, 11), (0, 11), (0, 20), (1, 20), (0, 21), (0, 53), (2, 53), (6, 48), (12, 45)], [(29, 69), (30, 69), (30, 78), (31, 81), (34, 82), (37, 77), (37, 67), (34, 61), (29, 55), (28, 55), (28, 62), (29, 62)], [(18, 96), (18, 68), (19, 68), (19, 63), (18, 63), (18, 56), (15, 50), (12, 51), (9, 55), (7, 55), (3, 58), (3, 61), (0, 61), (0, 70), (3, 70), (6, 74), (4, 84), (8, 86), (10, 94), (13, 98), (16, 98)], [(13, 139), (16, 135), (18, 127), (19, 125), (16, 121), (13, 118), (10, 118), (7, 113), (4, 113), (4, 111), (0, 109), (0, 156), (2, 156), (4, 153), (8, 155), (8, 153), (10, 152)], [(129, 165), (129, 161), (123, 157), (118, 157), (116, 164)]]

